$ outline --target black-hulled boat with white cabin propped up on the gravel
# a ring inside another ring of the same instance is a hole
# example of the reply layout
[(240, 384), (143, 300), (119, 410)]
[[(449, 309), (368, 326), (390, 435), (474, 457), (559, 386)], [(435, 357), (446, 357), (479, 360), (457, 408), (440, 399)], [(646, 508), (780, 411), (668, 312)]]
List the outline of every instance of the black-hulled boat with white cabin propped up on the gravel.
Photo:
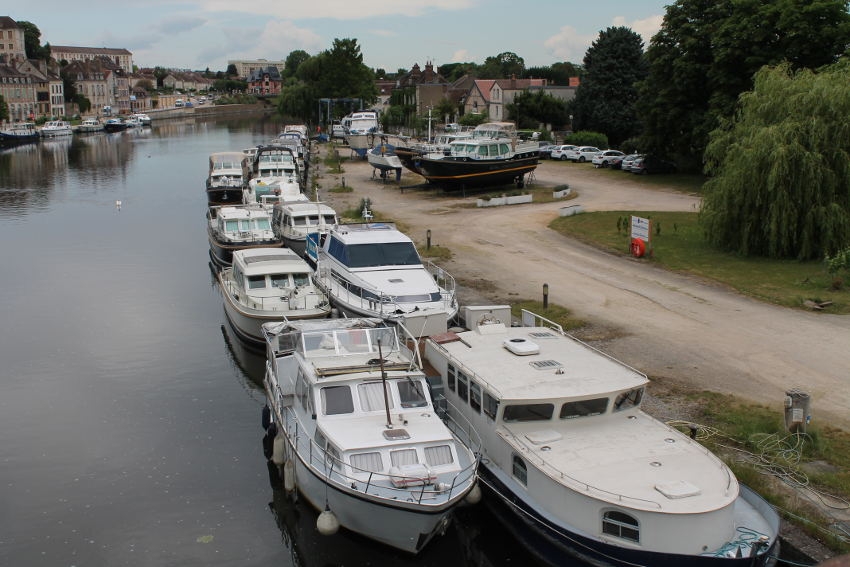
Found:
[(429, 183), (449, 188), (525, 185), (537, 168), (537, 142), (523, 142), (511, 122), (488, 122), (472, 137), (454, 140), (447, 152), (415, 157), (414, 167)]

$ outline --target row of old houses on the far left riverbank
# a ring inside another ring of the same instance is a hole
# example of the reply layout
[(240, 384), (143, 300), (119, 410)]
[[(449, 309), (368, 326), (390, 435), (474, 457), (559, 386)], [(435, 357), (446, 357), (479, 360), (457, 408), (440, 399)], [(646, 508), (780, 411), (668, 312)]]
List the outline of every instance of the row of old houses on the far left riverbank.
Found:
[[(91, 102), (89, 114), (132, 114), (173, 106), (175, 96), (152, 94), (157, 79), (152, 69), (134, 72), (133, 54), (126, 49), (51, 46), (51, 59), (27, 59), (24, 31), (8, 16), (0, 16), (0, 95), (9, 120), (21, 122), (81, 114), (66, 98), (65, 81)], [(60, 65), (62, 62), (62, 65)], [(192, 71), (171, 71), (163, 86), (177, 92), (206, 92), (212, 80)]]

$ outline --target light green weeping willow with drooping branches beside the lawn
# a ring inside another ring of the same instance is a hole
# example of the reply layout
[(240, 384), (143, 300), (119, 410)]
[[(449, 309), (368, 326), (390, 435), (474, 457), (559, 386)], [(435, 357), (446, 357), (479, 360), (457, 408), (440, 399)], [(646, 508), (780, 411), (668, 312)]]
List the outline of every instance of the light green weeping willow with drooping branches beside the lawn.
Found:
[(712, 132), (700, 213), (710, 242), (809, 260), (850, 245), (850, 63), (765, 67)]

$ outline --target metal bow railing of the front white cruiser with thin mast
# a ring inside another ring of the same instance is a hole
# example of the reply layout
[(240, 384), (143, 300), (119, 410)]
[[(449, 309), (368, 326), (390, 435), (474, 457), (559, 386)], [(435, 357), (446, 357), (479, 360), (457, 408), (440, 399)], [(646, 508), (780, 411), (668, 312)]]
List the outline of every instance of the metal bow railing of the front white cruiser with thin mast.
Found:
[[(451, 476), (437, 474), (428, 478), (388, 474), (360, 469), (331, 454), (305, 433), (297, 416), (286, 411), (285, 431), (298, 458), (327, 482), (359, 490), (363, 494), (388, 501), (415, 502), (422, 506), (443, 506), (465, 493), (475, 482), (478, 470), (477, 454), (469, 463)], [(460, 455), (459, 455), (460, 456)], [(405, 480), (409, 482), (405, 482)]]

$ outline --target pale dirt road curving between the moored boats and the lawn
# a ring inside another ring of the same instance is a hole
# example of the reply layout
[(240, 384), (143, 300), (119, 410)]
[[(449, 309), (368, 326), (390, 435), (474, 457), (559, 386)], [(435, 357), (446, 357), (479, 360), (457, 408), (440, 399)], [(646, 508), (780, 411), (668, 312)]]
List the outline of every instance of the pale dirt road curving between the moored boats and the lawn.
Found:
[[(324, 150), (322, 150), (324, 151)], [(776, 408), (785, 392), (812, 397), (813, 419), (850, 429), (850, 317), (767, 305), (645, 260), (610, 255), (547, 228), (565, 203), (475, 208), (474, 198), (405, 189), (372, 178), (365, 162), (344, 165), (352, 193), (328, 193), (339, 175), (321, 175), (322, 198), (337, 211), (369, 197), (382, 215), (404, 222), (410, 236), (445, 246), (444, 267), (460, 282), (486, 290), (493, 303), (540, 299), (563, 305), (610, 337), (602, 348), (650, 378), (687, 389), (733, 394)], [(592, 166), (541, 162), (537, 185), (568, 183), (587, 211), (696, 210), (696, 196), (603, 181)], [(596, 175), (595, 175), (596, 174)], [(608, 176), (605, 176), (608, 177)], [(406, 173), (401, 186), (422, 178)], [(480, 303), (480, 301), (476, 301)]]

